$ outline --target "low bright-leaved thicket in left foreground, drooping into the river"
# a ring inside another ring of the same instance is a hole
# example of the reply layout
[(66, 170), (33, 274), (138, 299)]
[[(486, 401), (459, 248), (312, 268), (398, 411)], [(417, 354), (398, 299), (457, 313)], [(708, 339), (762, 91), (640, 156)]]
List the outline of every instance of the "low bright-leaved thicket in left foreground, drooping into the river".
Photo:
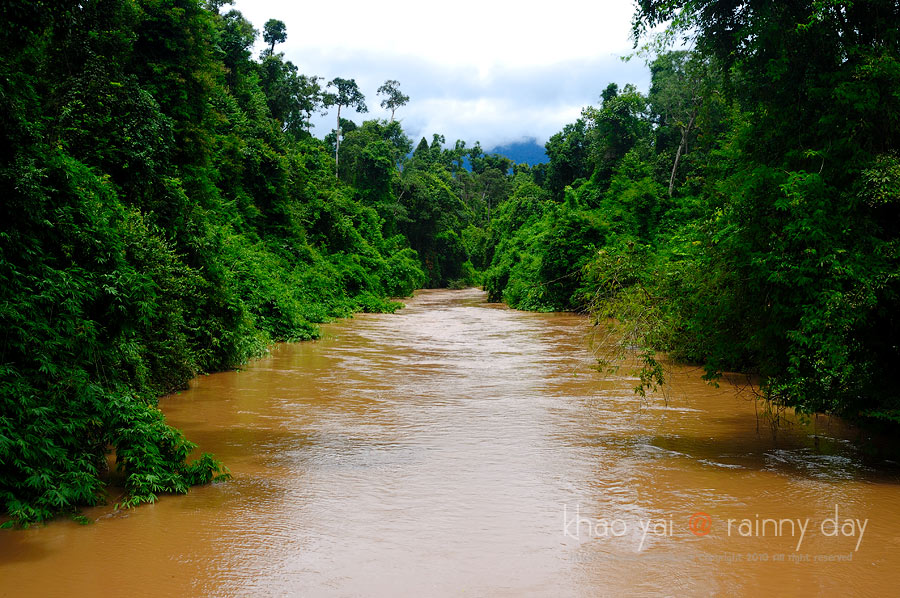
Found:
[(150, 405), (195, 371), (184, 302), (202, 284), (197, 274), (108, 180), (59, 152), (43, 157), (34, 184), (4, 212), (0, 500), (8, 514), (27, 523), (96, 503), (108, 447), (135, 500), (212, 479), (220, 465), (210, 457), (185, 464), (193, 446)]

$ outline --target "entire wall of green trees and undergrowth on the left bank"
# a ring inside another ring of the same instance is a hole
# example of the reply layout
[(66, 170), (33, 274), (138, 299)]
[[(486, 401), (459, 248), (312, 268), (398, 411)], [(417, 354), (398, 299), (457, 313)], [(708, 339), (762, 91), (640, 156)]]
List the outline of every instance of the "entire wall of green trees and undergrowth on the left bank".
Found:
[(251, 60), (256, 32), (220, 4), (4, 11), (0, 502), (15, 522), (103, 500), (113, 455), (122, 506), (227, 476), (191, 461), (157, 396), (330, 318), (394, 311), (424, 282), (377, 211), (403, 148), (361, 160), (359, 191), (338, 184), (302, 130), (316, 78)]

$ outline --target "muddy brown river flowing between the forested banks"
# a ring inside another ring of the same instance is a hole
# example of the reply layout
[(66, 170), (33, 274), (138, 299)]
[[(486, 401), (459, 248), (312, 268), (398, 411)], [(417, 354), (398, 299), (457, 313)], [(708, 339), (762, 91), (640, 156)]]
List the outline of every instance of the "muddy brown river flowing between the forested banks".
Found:
[(423, 291), (200, 377), (161, 407), (233, 479), (3, 532), (0, 595), (896, 595), (893, 464), (696, 369), (640, 399), (603, 343)]

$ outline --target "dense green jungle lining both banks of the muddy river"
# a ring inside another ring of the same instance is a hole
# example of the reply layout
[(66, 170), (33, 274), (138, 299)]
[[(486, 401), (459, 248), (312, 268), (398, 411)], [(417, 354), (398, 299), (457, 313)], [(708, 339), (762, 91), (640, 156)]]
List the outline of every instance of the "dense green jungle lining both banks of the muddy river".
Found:
[(0, 14), (9, 523), (227, 475), (158, 396), (421, 287), (590, 312), (641, 389), (665, 352), (775, 410), (900, 422), (896, 2), (641, 0), (648, 92), (601, 86), (536, 166), (414, 142), (394, 80), (386, 118), (343, 118), (368, 112), (354, 79), (301, 73), (282, 22), (221, 0)]

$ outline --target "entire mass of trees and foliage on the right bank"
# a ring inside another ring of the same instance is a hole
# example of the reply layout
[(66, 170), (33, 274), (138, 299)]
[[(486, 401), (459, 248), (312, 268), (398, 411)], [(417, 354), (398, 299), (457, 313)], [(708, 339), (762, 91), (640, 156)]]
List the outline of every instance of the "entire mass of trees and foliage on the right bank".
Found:
[(644, 387), (663, 350), (778, 408), (900, 422), (900, 5), (638, 4), (637, 39), (671, 22), (649, 93), (610, 85), (550, 139), (543, 188), (494, 220), (491, 296), (615, 318)]

